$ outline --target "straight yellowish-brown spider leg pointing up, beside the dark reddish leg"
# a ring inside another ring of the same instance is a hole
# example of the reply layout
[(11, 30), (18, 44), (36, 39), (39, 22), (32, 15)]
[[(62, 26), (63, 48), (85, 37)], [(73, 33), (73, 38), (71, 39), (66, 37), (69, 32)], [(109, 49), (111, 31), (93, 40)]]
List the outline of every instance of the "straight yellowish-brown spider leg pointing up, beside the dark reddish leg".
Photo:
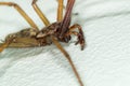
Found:
[(57, 3), (58, 3), (58, 8), (57, 8), (57, 22), (63, 20), (63, 9), (64, 9), (63, 1), (64, 0), (57, 0)]

